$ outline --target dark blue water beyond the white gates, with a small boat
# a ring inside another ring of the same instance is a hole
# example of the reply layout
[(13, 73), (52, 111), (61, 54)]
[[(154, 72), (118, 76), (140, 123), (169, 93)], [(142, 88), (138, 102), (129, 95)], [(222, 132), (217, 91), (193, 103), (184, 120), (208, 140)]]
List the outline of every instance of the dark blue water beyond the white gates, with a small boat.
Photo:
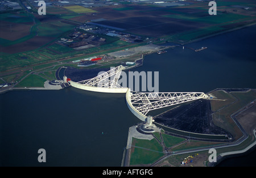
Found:
[[(209, 92), (215, 88), (256, 88), (256, 26), (151, 54), (131, 71), (159, 71), (159, 91)], [(207, 46), (207, 49), (195, 52)]]

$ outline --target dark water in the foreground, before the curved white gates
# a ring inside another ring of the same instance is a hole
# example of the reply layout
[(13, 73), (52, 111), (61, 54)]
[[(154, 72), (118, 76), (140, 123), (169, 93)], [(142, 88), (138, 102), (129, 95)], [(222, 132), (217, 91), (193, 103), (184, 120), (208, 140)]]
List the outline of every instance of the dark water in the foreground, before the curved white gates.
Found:
[(1, 166), (121, 166), (129, 127), (139, 122), (125, 94), (69, 87), (11, 91), (0, 100)]

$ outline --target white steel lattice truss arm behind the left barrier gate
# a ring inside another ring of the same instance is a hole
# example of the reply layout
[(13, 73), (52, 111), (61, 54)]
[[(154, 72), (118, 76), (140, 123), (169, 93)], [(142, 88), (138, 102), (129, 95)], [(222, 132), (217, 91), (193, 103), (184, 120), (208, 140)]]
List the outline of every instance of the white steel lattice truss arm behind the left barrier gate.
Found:
[[(92, 79), (82, 80), (77, 83), (93, 87), (121, 88), (117, 82), (122, 72), (122, 65), (115, 67), (105, 73), (98, 75)], [(110, 78), (110, 79), (109, 79)]]

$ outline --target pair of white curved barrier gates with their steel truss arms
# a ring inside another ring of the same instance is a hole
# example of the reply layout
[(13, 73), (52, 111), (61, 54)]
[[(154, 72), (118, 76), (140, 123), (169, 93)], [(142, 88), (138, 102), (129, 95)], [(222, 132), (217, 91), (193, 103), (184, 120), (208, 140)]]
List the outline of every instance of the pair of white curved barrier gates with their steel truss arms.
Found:
[[(131, 91), (118, 84), (123, 67), (118, 66), (92, 79), (73, 82), (69, 80), (71, 86), (82, 90), (126, 93), (126, 104), (130, 111), (142, 121), (148, 121), (146, 116), (154, 109), (170, 107), (171, 105), (186, 103), (197, 99), (207, 99), (208, 95), (203, 92), (138, 92)], [(110, 78), (110, 79), (109, 79)], [(151, 121), (152, 122), (152, 117)]]

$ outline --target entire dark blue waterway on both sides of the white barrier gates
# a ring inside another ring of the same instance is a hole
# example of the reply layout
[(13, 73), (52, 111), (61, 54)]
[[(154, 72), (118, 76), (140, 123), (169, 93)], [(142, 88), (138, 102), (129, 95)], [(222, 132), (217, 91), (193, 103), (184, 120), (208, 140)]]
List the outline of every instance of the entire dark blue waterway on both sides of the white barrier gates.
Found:
[[(131, 71), (159, 71), (160, 92), (256, 88), (255, 30), (151, 54)], [(189, 49), (202, 46), (208, 49)], [(141, 122), (125, 94), (72, 87), (1, 94), (0, 116), (0, 166), (120, 166), (128, 129)], [(38, 162), (39, 149), (46, 150), (46, 163)]]

